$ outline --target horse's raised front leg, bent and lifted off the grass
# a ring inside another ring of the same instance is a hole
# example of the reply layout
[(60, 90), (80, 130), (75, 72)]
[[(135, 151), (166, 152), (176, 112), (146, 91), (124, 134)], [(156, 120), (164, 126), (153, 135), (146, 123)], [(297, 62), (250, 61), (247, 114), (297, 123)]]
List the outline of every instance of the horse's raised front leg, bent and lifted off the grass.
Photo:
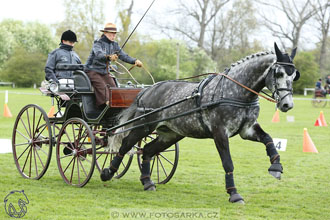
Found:
[(241, 131), (240, 135), (243, 139), (258, 141), (266, 146), (267, 155), (269, 156), (271, 163), (268, 172), (276, 179), (281, 179), (283, 167), (280, 163), (280, 155), (277, 153), (273, 139), (270, 137), (270, 135), (264, 132), (258, 123), (245, 127)]

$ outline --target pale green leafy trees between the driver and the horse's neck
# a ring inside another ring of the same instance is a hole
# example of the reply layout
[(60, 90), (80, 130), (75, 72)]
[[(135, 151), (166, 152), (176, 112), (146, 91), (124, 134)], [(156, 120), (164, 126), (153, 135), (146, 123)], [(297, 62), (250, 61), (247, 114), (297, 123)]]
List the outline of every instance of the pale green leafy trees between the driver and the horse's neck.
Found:
[[(151, 72), (155, 81), (170, 80), (176, 78), (177, 63), (177, 41), (158, 40), (148, 41), (141, 45), (136, 51), (131, 51), (132, 56), (139, 57)], [(186, 44), (180, 42), (180, 70), (179, 78), (199, 75), (215, 70), (215, 63), (206, 53), (199, 49), (189, 49)], [(134, 77), (140, 83), (152, 83), (150, 77), (143, 69), (135, 68), (132, 71)], [(119, 78), (128, 78), (126, 74)], [(195, 79), (199, 80), (199, 79)]]

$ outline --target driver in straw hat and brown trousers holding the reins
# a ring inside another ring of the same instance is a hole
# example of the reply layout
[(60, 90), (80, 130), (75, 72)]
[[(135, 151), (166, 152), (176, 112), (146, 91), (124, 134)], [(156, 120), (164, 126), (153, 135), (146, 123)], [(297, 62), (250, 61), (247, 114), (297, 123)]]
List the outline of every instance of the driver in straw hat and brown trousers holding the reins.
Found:
[(128, 56), (115, 41), (117, 27), (113, 23), (107, 23), (100, 39), (95, 40), (92, 51), (87, 59), (85, 71), (94, 87), (96, 105), (102, 107), (109, 105), (110, 87), (117, 87), (115, 77), (110, 74), (110, 62), (118, 58), (126, 63), (142, 66), (142, 62)]

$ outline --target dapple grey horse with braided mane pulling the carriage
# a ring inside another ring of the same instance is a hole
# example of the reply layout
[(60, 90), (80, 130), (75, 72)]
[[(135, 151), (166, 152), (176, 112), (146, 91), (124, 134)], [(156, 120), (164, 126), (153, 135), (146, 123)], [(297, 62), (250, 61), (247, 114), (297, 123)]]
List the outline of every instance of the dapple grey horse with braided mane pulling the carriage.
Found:
[[(243, 139), (264, 143), (271, 163), (269, 172), (280, 179), (283, 171), (280, 156), (270, 135), (263, 131), (257, 122), (258, 96), (234, 82), (236, 80), (258, 93), (266, 86), (273, 93), (273, 97), (277, 100), (277, 107), (282, 112), (293, 108), (292, 83), (300, 77), (300, 73), (293, 64), (296, 49), (288, 55), (282, 53), (276, 43), (274, 47), (275, 53), (253, 54), (233, 64), (226, 71), (228, 77), (220, 74), (213, 75), (199, 84), (165, 81), (141, 91), (134, 103), (121, 114), (120, 123), (185, 99), (185, 97), (195, 98), (187, 99), (127, 125), (125, 129), (144, 124), (143, 127), (123, 133), (119, 153), (112, 160), (111, 166), (102, 171), (101, 179), (110, 180), (123, 156), (138, 141), (154, 130), (157, 130), (158, 137), (143, 149), (140, 180), (144, 185), (144, 190), (155, 190), (155, 184), (150, 179), (152, 157), (184, 137), (214, 139), (225, 170), (226, 190), (230, 195), (230, 202), (244, 203), (234, 184), (234, 166), (228, 140), (230, 137), (239, 134)], [(195, 95), (192, 96), (193, 94)], [(192, 109), (198, 110), (191, 111)], [(185, 112), (190, 113), (184, 114)], [(173, 117), (176, 115), (181, 115), (181, 117)], [(153, 123), (153, 121), (157, 122)]]

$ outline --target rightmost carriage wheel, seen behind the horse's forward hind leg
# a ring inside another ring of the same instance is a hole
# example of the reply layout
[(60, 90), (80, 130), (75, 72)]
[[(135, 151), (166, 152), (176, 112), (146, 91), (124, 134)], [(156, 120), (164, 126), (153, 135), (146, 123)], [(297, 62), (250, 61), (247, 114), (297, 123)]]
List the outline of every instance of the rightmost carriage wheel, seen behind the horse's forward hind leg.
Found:
[[(143, 138), (138, 146), (143, 148), (144, 145), (157, 138), (157, 134), (153, 133)], [(141, 171), (142, 154), (138, 154), (138, 164)], [(179, 144), (167, 148), (165, 151), (156, 154), (150, 161), (150, 176), (152, 179), (156, 179), (156, 183), (165, 184), (173, 177), (176, 167), (179, 161)]]

